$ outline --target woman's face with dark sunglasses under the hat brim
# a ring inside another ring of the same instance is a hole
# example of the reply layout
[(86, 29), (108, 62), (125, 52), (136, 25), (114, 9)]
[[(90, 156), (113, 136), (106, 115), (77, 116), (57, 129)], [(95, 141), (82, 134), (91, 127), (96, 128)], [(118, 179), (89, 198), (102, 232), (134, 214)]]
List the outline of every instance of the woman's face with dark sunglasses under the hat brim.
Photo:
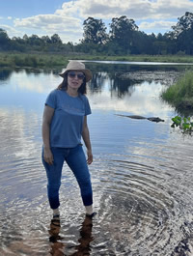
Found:
[(84, 73), (81, 71), (68, 72), (68, 88), (78, 90), (84, 80)]

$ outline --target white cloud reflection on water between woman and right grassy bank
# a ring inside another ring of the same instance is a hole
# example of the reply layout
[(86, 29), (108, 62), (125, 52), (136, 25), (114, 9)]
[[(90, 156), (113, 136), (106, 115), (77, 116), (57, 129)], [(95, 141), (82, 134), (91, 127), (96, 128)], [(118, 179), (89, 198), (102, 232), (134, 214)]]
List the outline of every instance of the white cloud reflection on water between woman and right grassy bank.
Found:
[[(104, 84), (105, 88), (109, 87), (109, 81)], [(163, 90), (163, 85), (143, 82), (140, 86), (135, 86), (132, 92), (132, 97), (125, 95), (122, 100), (118, 99), (116, 92), (110, 92), (109, 89), (104, 90), (102, 94), (90, 95), (89, 99), (93, 109), (105, 109), (122, 112), (131, 112), (134, 115), (146, 115), (151, 113), (152, 116), (159, 116), (163, 118), (167, 116), (168, 111), (171, 109), (168, 105), (162, 105), (159, 99), (160, 92)], [(149, 96), (149, 97), (148, 97)], [(113, 100), (112, 100), (113, 97)], [(138, 102), (141, 102), (139, 104)], [(143, 103), (142, 103), (143, 102)]]

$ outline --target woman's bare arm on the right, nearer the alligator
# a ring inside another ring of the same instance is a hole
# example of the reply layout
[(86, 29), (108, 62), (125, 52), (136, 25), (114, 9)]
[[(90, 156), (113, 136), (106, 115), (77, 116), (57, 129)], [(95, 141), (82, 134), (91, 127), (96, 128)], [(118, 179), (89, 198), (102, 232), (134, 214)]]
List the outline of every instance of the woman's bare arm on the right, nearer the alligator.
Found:
[(93, 162), (93, 154), (92, 154), (89, 128), (87, 126), (87, 116), (84, 117), (82, 138), (84, 140), (85, 146), (87, 147), (87, 156), (88, 156), (87, 162), (88, 162), (88, 164), (91, 164)]

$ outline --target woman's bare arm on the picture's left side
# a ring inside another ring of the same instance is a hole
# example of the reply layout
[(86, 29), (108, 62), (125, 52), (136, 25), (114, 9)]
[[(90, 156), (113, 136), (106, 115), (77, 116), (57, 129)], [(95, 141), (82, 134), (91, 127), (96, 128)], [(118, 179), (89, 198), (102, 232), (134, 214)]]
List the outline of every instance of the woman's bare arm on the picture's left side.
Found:
[(53, 164), (53, 156), (50, 150), (50, 143), (49, 143), (49, 131), (50, 131), (50, 124), (54, 114), (54, 108), (45, 105), (43, 116), (42, 116), (42, 142), (43, 142), (43, 159), (48, 164)]

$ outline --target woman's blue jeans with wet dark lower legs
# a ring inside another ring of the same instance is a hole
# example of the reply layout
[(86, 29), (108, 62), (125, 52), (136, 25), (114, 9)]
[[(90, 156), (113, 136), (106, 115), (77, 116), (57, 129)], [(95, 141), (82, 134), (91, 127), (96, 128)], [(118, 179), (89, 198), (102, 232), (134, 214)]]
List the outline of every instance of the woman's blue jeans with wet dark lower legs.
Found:
[(77, 145), (75, 148), (51, 148), (51, 152), (54, 162), (52, 165), (49, 165), (43, 159), (42, 149), (42, 163), (47, 175), (47, 196), (50, 208), (57, 209), (60, 206), (59, 188), (64, 161), (67, 162), (77, 180), (84, 206), (92, 205), (91, 176), (82, 146)]

